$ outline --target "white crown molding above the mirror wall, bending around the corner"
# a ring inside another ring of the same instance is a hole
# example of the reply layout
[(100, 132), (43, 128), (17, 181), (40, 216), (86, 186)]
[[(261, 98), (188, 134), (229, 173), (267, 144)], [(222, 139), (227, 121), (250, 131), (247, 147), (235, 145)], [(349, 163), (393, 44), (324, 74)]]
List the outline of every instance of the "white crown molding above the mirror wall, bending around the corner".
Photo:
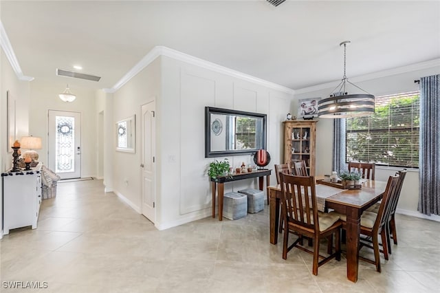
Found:
[(182, 52), (179, 52), (177, 50), (170, 49), (168, 47), (164, 46), (155, 46), (153, 49), (144, 56), (144, 58), (141, 59), (132, 69), (130, 69), (129, 72), (127, 72), (122, 78), (113, 85), (111, 89), (103, 89), (106, 93), (114, 93), (122, 85), (127, 83), (131, 78), (133, 78), (136, 74), (138, 74), (142, 69), (147, 67), (150, 63), (152, 63), (155, 58), (159, 56), (166, 56), (173, 59), (176, 59), (178, 61), (182, 61), (185, 63), (189, 63), (191, 65), (196, 65), (199, 67), (203, 67), (205, 69), (212, 70), (214, 72), (219, 72), (221, 74), (225, 74), (228, 76), (232, 76), (235, 78), (240, 78), (241, 80), (247, 80), (250, 83), (256, 83), (258, 85), (263, 85), (264, 87), (269, 87), (271, 89), (275, 89), (277, 91), (283, 91), (286, 94), (295, 94), (295, 91), (293, 89), (289, 89), (288, 87), (283, 87), (282, 85), (277, 85), (276, 83), (271, 83), (270, 81), (263, 80), (261, 78), (256, 78), (254, 76), (250, 76), (248, 74), (243, 74), (242, 72), (238, 72), (236, 70), (230, 69), (228, 67), (224, 67), (206, 60), (203, 60), (201, 58), (197, 58), (195, 56), (191, 56)]

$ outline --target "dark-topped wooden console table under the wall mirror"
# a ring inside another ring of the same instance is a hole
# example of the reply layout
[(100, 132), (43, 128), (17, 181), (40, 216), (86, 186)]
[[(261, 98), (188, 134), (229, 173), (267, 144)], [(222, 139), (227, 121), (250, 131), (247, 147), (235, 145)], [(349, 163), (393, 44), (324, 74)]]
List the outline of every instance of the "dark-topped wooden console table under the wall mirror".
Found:
[[(219, 193), (219, 221), (223, 220), (223, 193), (224, 193), (224, 184), (225, 182), (232, 182), (237, 180), (243, 180), (248, 178), (259, 178), (259, 188), (263, 190), (264, 177), (266, 176), (266, 188), (270, 185), (269, 177), (272, 173), (270, 169), (256, 170), (252, 172), (246, 173), (234, 173), (228, 176), (219, 176), (216, 179), (210, 178), (212, 182), (212, 217), (215, 217), (215, 192), (218, 189)], [(269, 204), (269, 193), (267, 193), (267, 204)]]

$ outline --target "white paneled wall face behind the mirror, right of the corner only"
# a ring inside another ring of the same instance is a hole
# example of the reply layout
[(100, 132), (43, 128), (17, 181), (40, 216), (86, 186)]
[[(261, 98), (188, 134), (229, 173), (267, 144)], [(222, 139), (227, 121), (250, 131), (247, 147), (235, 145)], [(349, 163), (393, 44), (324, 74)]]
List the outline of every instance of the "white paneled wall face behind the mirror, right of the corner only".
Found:
[[(173, 58), (162, 57), (163, 95), (158, 119), (162, 127), (159, 173), (159, 228), (208, 217), (212, 208), (204, 158), (206, 106), (267, 114), (267, 149), (272, 164), (280, 162), (281, 121), (291, 95), (240, 78), (220, 74)], [(173, 160), (176, 158), (176, 160)], [(219, 158), (223, 159), (223, 158)], [(251, 155), (228, 157), (231, 166), (253, 163)], [(274, 177), (272, 182), (274, 182)], [(225, 184), (225, 192), (256, 187), (257, 180)]]

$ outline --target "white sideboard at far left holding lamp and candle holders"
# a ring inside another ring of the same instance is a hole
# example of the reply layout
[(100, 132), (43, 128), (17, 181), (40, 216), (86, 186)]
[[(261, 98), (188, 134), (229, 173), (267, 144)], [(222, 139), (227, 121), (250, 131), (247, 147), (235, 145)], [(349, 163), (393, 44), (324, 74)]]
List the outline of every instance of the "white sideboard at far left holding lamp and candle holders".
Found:
[(3, 235), (14, 228), (36, 228), (41, 205), (41, 166), (40, 163), (30, 171), (1, 173)]

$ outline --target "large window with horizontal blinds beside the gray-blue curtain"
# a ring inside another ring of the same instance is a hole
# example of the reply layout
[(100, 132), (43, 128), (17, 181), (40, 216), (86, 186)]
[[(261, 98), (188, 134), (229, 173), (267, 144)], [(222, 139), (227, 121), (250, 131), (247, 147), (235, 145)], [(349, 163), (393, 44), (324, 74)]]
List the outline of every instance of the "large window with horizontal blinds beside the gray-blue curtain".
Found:
[(419, 91), (375, 98), (375, 113), (347, 118), (346, 161), (419, 168)]

